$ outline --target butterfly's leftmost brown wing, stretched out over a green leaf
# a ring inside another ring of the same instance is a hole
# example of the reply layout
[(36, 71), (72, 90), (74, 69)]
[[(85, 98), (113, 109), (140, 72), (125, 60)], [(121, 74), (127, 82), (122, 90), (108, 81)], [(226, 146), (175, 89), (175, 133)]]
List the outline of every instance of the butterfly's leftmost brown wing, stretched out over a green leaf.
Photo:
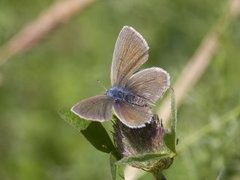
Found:
[(110, 120), (112, 116), (113, 101), (106, 95), (98, 95), (80, 101), (71, 111), (80, 118), (93, 121)]

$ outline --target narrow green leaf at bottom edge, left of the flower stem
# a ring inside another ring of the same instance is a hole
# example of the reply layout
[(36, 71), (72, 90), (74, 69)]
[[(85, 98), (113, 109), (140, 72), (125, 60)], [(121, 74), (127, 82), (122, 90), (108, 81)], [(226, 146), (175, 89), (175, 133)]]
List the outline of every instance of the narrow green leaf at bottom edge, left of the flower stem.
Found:
[(117, 165), (117, 158), (114, 154), (110, 153), (110, 166), (111, 174), (113, 180), (122, 180), (124, 179), (124, 171), (122, 165)]

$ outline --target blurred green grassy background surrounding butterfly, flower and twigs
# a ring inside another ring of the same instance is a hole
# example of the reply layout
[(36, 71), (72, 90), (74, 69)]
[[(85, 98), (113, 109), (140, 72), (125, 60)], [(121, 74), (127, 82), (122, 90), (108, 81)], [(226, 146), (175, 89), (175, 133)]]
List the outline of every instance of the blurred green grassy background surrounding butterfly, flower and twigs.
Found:
[[(0, 45), (53, 2), (0, 0)], [(0, 179), (111, 179), (108, 155), (65, 123), (58, 109), (103, 92), (97, 80), (110, 86), (114, 43), (124, 25), (150, 46), (143, 67), (161, 66), (174, 82), (227, 3), (97, 1), (31, 51), (10, 59), (0, 67)], [(236, 18), (178, 110), (179, 144), (191, 136), (197, 140), (179, 152), (165, 173), (169, 179), (240, 179), (239, 116), (229, 114), (240, 103), (239, 32)], [(194, 134), (201, 128), (210, 131)]]

